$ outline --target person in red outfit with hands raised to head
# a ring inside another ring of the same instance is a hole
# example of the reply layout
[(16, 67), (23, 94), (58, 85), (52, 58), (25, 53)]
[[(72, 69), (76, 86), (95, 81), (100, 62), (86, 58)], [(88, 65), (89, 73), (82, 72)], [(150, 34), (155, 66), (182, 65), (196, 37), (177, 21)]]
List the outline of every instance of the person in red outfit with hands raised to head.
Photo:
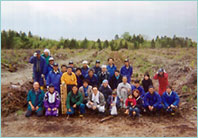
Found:
[(159, 69), (159, 71), (155, 74), (153, 79), (159, 81), (159, 94), (162, 94), (166, 91), (166, 87), (168, 86), (168, 73), (165, 72), (164, 69)]

